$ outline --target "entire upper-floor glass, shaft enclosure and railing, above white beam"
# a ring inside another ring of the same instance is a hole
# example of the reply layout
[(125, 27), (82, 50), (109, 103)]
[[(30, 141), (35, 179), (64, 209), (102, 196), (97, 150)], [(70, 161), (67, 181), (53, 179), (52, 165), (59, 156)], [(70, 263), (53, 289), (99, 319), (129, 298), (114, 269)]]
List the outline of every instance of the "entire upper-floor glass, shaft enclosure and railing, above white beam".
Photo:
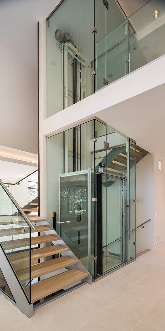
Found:
[(47, 18), (47, 117), (165, 54), (164, 32), (162, 0), (129, 18), (115, 0), (61, 1)]

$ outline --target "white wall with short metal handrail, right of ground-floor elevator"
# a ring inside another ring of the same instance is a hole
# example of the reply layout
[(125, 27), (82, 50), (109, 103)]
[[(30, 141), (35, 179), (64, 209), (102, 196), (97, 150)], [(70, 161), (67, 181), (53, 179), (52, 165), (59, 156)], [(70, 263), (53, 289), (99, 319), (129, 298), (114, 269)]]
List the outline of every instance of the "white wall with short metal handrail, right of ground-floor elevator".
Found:
[(136, 166), (136, 253), (154, 248), (154, 155), (147, 154)]

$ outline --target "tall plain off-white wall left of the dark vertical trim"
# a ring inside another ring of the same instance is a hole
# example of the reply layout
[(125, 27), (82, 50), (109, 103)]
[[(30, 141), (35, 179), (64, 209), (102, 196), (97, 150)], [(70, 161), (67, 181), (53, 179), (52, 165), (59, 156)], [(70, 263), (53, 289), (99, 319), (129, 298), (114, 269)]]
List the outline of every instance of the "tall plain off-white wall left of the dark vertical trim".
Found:
[(37, 154), (37, 69), (1, 44), (0, 58), (1, 145)]

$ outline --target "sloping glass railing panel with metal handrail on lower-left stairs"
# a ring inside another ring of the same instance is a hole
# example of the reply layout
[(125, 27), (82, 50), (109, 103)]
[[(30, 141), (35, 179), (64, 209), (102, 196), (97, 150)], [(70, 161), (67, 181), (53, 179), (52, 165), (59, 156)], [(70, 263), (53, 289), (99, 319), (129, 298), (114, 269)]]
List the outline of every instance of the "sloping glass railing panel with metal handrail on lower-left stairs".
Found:
[[(14, 215), (13, 211), (15, 211)], [(31, 303), (31, 230), (35, 230), (35, 227), (0, 180), (0, 246), (29, 304)], [(1, 272), (3, 274), (3, 270)], [(28, 292), (25, 290), (27, 284), (29, 284)], [(3, 291), (11, 297), (8, 286), (4, 285)]]

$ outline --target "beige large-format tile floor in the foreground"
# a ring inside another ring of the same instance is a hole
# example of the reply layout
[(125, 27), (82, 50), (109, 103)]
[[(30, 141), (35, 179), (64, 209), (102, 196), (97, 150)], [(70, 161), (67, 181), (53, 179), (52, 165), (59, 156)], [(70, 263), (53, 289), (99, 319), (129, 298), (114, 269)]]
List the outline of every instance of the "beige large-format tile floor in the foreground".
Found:
[(165, 331), (165, 246), (28, 319), (0, 295), (0, 331)]

